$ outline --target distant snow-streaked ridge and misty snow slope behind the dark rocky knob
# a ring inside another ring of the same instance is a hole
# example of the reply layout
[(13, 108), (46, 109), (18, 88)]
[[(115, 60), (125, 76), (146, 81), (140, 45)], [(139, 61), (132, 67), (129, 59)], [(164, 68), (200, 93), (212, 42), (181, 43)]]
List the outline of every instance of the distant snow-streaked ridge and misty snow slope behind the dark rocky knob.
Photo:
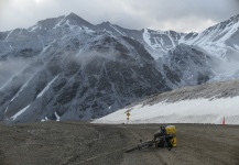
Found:
[(202, 33), (144, 30), (143, 36), (145, 47), (155, 58), (167, 58), (165, 54), (177, 45), (192, 45), (214, 58), (211, 69), (215, 77), (211, 77), (211, 81), (239, 78), (239, 14)]

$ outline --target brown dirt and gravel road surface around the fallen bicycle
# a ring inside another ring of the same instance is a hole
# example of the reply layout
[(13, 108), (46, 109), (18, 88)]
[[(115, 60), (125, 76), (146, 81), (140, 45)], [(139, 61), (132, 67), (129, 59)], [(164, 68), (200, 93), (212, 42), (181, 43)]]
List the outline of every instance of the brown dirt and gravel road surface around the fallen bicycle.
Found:
[(177, 147), (126, 153), (162, 124), (0, 124), (0, 165), (239, 165), (239, 127), (175, 124)]

